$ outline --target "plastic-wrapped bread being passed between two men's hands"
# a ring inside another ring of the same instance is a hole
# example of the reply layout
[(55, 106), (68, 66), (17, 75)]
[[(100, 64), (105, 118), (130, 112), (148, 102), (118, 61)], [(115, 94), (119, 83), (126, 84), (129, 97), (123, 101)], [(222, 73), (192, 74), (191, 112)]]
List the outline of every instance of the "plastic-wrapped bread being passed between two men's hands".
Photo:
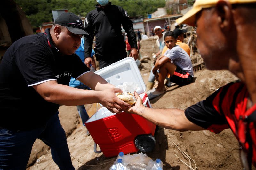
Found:
[(138, 84), (136, 83), (124, 82), (122, 85), (116, 86), (116, 88), (123, 90), (123, 93), (116, 93), (116, 96), (125, 103), (133, 105), (136, 103), (136, 98), (134, 97), (133, 92), (137, 89), (137, 87)]

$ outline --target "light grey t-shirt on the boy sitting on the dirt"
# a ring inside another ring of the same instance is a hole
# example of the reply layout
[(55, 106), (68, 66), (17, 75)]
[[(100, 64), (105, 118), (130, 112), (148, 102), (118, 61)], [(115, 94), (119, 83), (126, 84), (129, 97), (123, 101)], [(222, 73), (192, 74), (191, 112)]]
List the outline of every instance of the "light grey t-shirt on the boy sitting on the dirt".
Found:
[(180, 46), (176, 45), (172, 49), (168, 49), (164, 56), (170, 58), (176, 66), (179, 66), (183, 71), (189, 73), (194, 77), (193, 66), (191, 59), (186, 51)]

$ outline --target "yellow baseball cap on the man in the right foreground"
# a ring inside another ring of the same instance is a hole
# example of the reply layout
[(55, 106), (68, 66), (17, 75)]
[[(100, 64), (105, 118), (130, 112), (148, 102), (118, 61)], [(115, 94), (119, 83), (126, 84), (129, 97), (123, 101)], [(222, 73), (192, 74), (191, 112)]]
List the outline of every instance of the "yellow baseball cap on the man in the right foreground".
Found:
[[(176, 19), (178, 24), (184, 23), (190, 26), (195, 25), (196, 21), (196, 13), (201, 11), (203, 8), (210, 8), (215, 6), (219, 0), (196, 0), (193, 5), (193, 8), (188, 11), (184, 16)], [(228, 0), (231, 4), (245, 4), (245, 3), (253, 3), (256, 0)]]

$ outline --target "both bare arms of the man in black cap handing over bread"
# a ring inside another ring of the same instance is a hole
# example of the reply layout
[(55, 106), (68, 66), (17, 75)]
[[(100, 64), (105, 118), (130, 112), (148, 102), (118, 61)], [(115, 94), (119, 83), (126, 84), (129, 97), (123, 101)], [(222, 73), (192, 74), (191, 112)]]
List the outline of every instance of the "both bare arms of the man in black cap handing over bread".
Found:
[(116, 92), (122, 92), (122, 90), (113, 88), (114, 85), (109, 84), (91, 71), (81, 76), (81, 80), (86, 79), (84, 78), (85, 75), (88, 75), (89, 79), (91, 78), (88, 81), (89, 85), (99, 91), (76, 89), (67, 85), (58, 84), (55, 80), (34, 85), (33, 88), (44, 100), (62, 105), (77, 106), (101, 103), (112, 113), (120, 113), (122, 110), (130, 107), (129, 104), (119, 99), (115, 94)]

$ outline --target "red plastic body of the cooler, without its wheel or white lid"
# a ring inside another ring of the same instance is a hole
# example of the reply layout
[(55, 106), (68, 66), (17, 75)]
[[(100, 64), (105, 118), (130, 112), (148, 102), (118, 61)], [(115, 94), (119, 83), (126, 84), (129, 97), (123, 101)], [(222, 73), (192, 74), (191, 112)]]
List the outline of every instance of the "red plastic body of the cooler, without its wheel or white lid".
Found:
[[(147, 94), (143, 93), (140, 96), (143, 103), (147, 107), (151, 107)], [(104, 108), (98, 112), (102, 109)], [(139, 149), (134, 142), (135, 137), (145, 134), (154, 136), (156, 129), (156, 125), (145, 118), (126, 112), (92, 122), (87, 121), (85, 126), (105, 157), (117, 156), (119, 152), (124, 152), (124, 154), (138, 152)]]

